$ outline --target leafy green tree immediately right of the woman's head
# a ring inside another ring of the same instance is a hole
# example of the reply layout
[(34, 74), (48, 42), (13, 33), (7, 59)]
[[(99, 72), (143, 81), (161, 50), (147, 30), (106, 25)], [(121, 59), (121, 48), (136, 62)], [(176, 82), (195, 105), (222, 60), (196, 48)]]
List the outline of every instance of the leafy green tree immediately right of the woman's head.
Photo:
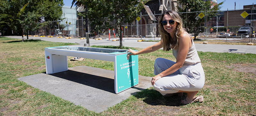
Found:
[[(179, 12), (187, 12), (188, 13), (181, 13), (180, 17), (183, 19), (183, 25), (185, 28), (187, 28), (188, 33), (195, 33), (195, 39), (196, 36), (199, 33), (204, 32), (204, 20), (205, 18), (208, 20), (211, 20), (214, 16), (216, 16), (216, 13), (220, 10), (220, 5), (222, 5), (225, 1), (214, 5), (214, 7), (211, 9), (211, 1), (204, 1), (204, 0), (178, 0), (178, 3), (180, 4), (180, 7), (178, 6)], [(205, 10), (207, 11), (207, 15), (205, 14)], [(201, 12), (204, 14), (204, 18), (200, 18), (198, 15)]]

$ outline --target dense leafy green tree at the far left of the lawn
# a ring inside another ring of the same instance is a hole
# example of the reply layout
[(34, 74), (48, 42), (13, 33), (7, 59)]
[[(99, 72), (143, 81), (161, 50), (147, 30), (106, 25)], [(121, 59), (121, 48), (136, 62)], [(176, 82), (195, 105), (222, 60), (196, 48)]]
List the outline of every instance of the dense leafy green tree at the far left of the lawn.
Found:
[(0, 0), (0, 27), (8, 26), (23, 40), (24, 33), (46, 24), (40, 22), (42, 17), (46, 21), (60, 19), (62, 6), (62, 0)]

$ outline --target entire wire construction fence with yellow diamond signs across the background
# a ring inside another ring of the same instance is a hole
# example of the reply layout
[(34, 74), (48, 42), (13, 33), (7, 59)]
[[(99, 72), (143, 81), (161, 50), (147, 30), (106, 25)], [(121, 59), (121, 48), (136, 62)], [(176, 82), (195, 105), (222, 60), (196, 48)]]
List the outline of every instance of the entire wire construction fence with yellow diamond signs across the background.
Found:
[[(205, 41), (225, 41), (225, 42), (256, 42), (256, 8), (236, 9), (217, 11), (209, 18), (212, 11), (182, 12), (179, 13), (183, 19), (184, 29), (195, 40)], [(203, 14), (203, 15), (202, 15)], [(128, 38), (160, 38), (158, 33), (158, 19), (161, 14), (142, 15), (140, 14), (133, 23), (121, 22), (123, 37)], [(107, 19), (107, 18), (105, 18)], [(199, 22), (198, 24), (198, 21)], [(36, 31), (29, 32), (30, 35), (52, 35), (52, 36), (73, 36), (85, 37), (86, 20), (68, 19), (63, 21), (48, 21), (48, 25)], [(117, 21), (113, 21), (115, 23)], [(246, 27), (242, 30), (241, 27)], [(116, 29), (110, 29), (106, 33), (92, 32), (93, 30), (88, 19), (88, 29), (90, 37), (119, 38)], [(114, 36), (115, 35), (115, 36)], [(196, 36), (196, 37), (195, 37)]]

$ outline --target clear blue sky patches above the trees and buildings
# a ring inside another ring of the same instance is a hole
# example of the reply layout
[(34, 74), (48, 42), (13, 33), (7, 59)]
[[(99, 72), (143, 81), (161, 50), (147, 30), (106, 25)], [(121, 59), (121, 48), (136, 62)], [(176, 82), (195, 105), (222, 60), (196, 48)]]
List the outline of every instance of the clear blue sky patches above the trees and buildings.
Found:
[[(73, 0), (63, 0), (65, 6), (71, 6)], [(221, 3), (225, 0), (217, 0), (218, 3)], [(244, 5), (252, 5), (252, 3), (255, 5), (254, 8), (256, 7), (256, 0), (226, 0), (224, 4), (222, 4), (222, 10), (234, 10), (235, 9), (235, 2), (236, 2), (236, 9), (243, 9)], [(73, 7), (75, 7), (73, 5)]]

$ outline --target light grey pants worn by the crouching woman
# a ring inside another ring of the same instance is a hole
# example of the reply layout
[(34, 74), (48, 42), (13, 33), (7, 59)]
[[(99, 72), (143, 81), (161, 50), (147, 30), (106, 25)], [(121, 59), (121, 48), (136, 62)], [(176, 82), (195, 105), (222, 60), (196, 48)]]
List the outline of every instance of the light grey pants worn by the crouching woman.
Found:
[[(154, 64), (154, 75), (170, 68), (175, 62), (157, 58)], [(201, 63), (183, 66), (171, 75), (164, 76), (153, 85), (162, 95), (178, 91), (199, 91), (204, 86), (204, 69)]]

